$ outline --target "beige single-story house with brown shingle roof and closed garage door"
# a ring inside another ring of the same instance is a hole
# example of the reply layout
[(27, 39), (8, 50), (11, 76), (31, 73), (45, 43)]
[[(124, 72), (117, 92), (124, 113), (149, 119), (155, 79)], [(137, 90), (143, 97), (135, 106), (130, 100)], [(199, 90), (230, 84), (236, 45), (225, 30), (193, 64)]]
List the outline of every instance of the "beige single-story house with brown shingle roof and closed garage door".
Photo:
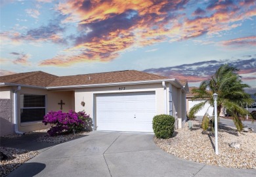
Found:
[[(186, 121), (188, 84), (127, 70), (58, 77), (43, 71), (0, 77), (1, 136), (45, 128), (48, 111), (82, 111), (94, 130), (153, 132), (154, 115)], [(85, 104), (83, 104), (83, 102)]]

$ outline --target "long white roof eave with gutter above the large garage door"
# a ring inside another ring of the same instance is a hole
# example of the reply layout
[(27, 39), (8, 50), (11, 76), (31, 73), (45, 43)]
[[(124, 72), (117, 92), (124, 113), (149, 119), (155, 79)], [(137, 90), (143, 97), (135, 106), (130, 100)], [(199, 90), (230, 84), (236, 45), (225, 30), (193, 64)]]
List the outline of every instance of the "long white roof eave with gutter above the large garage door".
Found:
[(47, 90), (54, 89), (68, 89), (68, 88), (90, 88), (90, 87), (108, 87), (116, 85), (135, 85), (135, 84), (151, 84), (151, 83), (161, 83), (162, 81), (173, 83), (173, 85), (182, 88), (181, 83), (176, 79), (158, 79), (158, 80), (148, 80), (148, 81), (132, 81), (132, 82), (119, 82), (119, 83), (101, 83), (101, 84), (90, 84), (90, 85), (65, 85), (56, 87), (46, 87)]

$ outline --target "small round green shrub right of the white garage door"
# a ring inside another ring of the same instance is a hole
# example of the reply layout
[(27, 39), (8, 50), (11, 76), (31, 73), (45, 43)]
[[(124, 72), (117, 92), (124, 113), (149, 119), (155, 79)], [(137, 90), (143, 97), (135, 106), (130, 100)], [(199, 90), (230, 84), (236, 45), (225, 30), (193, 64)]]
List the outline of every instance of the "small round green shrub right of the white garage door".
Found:
[(175, 118), (171, 115), (161, 114), (153, 118), (153, 130), (157, 138), (171, 138), (175, 128)]

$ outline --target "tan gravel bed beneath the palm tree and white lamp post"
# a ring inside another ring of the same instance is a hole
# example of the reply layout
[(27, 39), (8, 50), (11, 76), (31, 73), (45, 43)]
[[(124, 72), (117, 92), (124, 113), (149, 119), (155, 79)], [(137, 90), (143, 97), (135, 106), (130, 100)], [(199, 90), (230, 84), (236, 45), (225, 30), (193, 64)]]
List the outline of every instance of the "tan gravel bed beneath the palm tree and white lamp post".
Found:
[[(255, 133), (238, 133), (232, 127), (220, 127), (219, 155), (215, 155), (215, 137), (212, 134), (202, 134), (201, 121), (192, 121), (192, 124), (192, 130), (186, 123), (172, 138), (164, 140), (155, 137), (154, 142), (164, 151), (189, 161), (220, 167), (256, 169)], [(230, 147), (232, 142), (240, 142), (240, 148)]]

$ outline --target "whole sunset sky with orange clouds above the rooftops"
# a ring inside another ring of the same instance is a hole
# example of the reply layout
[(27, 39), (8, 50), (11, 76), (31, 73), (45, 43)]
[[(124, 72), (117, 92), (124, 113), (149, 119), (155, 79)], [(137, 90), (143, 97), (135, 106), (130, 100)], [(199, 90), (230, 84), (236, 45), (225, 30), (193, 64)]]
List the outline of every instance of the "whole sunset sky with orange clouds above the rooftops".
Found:
[(221, 66), (256, 87), (256, 0), (1, 0), (0, 75), (136, 69), (196, 86)]

